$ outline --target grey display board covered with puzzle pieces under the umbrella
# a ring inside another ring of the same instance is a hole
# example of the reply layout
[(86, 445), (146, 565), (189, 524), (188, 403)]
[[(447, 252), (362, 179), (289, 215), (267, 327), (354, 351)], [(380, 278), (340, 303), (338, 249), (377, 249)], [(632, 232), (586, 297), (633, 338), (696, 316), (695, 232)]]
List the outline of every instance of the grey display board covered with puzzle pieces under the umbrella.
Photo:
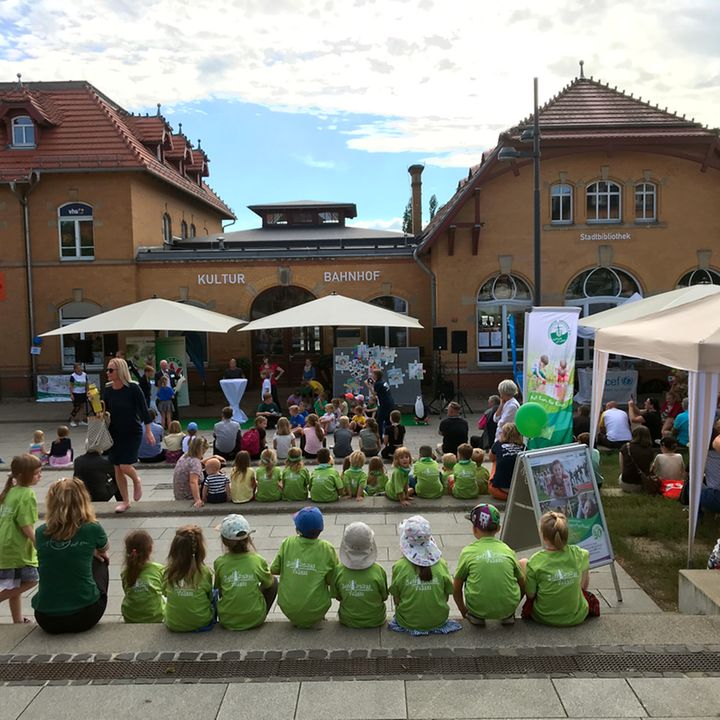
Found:
[(420, 350), (416, 347), (361, 344), (351, 348), (334, 348), (333, 396), (347, 392), (367, 396), (365, 383), (375, 368), (385, 372), (390, 392), (398, 405), (415, 405), (426, 372), (420, 362)]

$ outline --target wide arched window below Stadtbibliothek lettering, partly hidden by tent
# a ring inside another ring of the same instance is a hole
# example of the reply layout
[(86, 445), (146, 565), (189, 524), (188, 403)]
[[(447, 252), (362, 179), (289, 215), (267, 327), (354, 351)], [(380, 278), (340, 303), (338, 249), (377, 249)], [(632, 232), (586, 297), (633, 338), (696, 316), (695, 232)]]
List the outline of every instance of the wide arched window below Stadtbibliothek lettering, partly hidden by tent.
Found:
[[(640, 292), (638, 281), (625, 270), (595, 267), (576, 275), (568, 285), (565, 304), (581, 308), (580, 317), (622, 305)], [(592, 361), (592, 341), (578, 338), (577, 361)]]

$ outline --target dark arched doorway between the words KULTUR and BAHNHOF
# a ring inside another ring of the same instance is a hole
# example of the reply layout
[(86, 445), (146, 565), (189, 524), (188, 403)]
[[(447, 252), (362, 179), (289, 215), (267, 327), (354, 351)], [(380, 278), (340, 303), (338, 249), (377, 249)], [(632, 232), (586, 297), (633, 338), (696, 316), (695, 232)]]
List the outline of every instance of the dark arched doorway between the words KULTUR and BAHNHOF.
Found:
[[(315, 296), (304, 288), (293, 285), (269, 288), (253, 300), (250, 319), (258, 320), (310, 300), (315, 300)], [(256, 330), (252, 333), (252, 353), (253, 374), (256, 373), (263, 357), (267, 355), (285, 370), (283, 384), (298, 385), (302, 379), (305, 358), (309, 357), (316, 365), (322, 354), (321, 328)]]

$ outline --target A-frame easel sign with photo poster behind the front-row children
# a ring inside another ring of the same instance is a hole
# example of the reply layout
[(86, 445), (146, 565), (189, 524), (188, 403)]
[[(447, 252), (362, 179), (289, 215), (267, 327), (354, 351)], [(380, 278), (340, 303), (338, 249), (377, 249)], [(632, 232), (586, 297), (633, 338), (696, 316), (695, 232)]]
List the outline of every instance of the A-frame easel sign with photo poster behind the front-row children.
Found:
[(516, 551), (538, 547), (538, 523), (550, 510), (567, 517), (569, 542), (590, 553), (591, 568), (613, 563), (615, 556), (587, 446), (559, 445), (518, 455), (501, 539)]

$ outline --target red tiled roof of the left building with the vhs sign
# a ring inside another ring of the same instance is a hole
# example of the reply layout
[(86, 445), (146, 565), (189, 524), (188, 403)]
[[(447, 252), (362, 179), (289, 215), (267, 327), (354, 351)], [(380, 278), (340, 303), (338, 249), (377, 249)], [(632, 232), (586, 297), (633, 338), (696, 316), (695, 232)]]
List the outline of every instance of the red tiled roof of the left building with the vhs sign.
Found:
[(0, 83), (0, 117), (23, 102), (28, 112), (42, 112), (46, 122), (39, 124), (50, 127), (39, 129), (36, 148), (20, 150), (8, 148), (7, 126), (0, 123), (0, 182), (27, 177), (32, 170), (144, 170), (212, 206), (223, 217), (235, 217), (208, 185), (158, 160), (153, 145), (172, 133), (162, 116), (131, 115), (87, 82), (38, 82), (22, 87)]

